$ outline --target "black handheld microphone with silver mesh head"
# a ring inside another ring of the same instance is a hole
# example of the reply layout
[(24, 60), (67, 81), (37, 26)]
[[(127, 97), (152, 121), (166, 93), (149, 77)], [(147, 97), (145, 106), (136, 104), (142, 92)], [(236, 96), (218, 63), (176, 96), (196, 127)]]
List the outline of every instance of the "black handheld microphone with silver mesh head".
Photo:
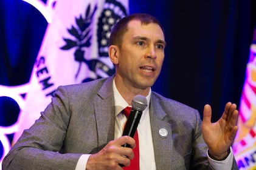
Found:
[[(123, 129), (122, 136), (134, 137), (137, 126), (139, 125), (140, 117), (142, 116), (142, 111), (147, 108), (147, 98), (145, 96), (137, 95), (133, 97), (131, 101), (131, 113)], [(125, 144), (124, 147), (130, 147), (130, 145)]]

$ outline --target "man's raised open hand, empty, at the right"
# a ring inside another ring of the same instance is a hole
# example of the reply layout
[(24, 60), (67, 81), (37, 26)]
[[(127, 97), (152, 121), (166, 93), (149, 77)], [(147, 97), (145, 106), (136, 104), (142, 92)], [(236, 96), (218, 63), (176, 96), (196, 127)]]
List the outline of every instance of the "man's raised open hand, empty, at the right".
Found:
[(228, 102), (224, 108), (223, 115), (215, 122), (211, 122), (212, 108), (210, 105), (204, 106), (202, 119), (202, 136), (209, 148), (209, 154), (217, 160), (223, 159), (227, 155), (235, 139), (238, 126), (237, 105)]

